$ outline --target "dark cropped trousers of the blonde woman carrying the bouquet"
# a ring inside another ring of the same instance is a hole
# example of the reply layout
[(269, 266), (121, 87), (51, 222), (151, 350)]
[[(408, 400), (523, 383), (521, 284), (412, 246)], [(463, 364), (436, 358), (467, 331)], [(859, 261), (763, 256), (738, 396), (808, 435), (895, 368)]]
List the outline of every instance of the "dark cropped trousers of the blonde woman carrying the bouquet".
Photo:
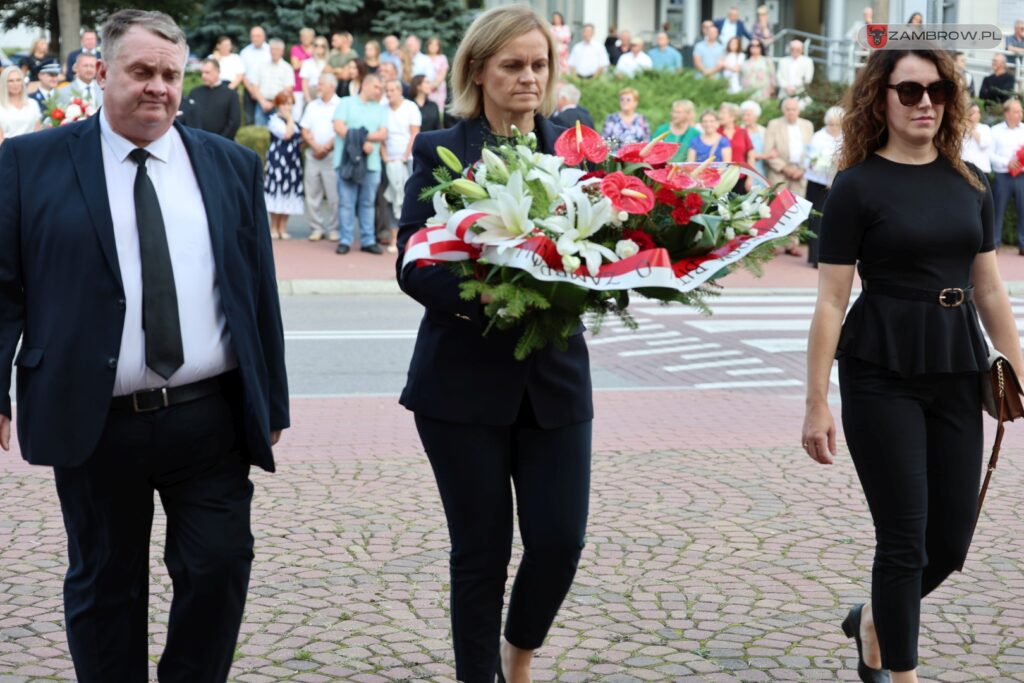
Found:
[(505, 638), (523, 649), (544, 643), (583, 551), (591, 425), (588, 421), (541, 429), (528, 401), (510, 427), (416, 416), (452, 539), (452, 636), (458, 680), (495, 680), (512, 554), (512, 485), (523, 556), (512, 585)]

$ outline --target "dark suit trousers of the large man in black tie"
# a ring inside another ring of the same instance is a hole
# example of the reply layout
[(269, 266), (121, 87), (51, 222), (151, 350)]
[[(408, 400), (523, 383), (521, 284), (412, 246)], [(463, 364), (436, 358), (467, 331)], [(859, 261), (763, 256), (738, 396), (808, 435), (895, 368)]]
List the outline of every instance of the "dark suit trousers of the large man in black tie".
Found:
[(241, 394), (154, 413), (111, 413), (96, 451), (56, 468), (69, 569), (68, 643), (80, 683), (148, 681), (154, 492), (167, 514), (174, 597), (161, 683), (227, 680), (249, 587), (253, 486)]

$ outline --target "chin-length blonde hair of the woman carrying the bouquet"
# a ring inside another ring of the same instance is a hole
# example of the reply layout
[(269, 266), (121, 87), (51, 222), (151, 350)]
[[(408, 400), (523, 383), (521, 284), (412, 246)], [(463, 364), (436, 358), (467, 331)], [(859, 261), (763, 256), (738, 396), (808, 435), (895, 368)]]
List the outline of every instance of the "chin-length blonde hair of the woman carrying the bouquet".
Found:
[(483, 114), (483, 88), (473, 82), (483, 65), (508, 42), (531, 31), (540, 31), (548, 41), (548, 83), (541, 98), (540, 113), (555, 110), (558, 82), (558, 49), (551, 27), (525, 5), (504, 5), (483, 12), (470, 25), (452, 63), (452, 105), (449, 112), (462, 119)]

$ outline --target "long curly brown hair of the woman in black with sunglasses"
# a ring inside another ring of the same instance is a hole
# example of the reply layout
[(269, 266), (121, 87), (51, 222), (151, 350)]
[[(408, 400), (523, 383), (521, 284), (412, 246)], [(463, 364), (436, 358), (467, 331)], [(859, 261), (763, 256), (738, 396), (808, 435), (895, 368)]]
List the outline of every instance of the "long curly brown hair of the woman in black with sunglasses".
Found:
[(843, 144), (837, 164), (839, 170), (856, 166), (885, 146), (889, 139), (885, 112), (889, 77), (899, 60), (910, 54), (931, 61), (938, 70), (940, 79), (956, 85), (953, 95), (946, 99), (939, 131), (935, 134), (935, 146), (972, 187), (984, 190), (985, 185), (961, 158), (969, 125), (969, 104), (956, 74), (956, 65), (952, 56), (942, 50), (877, 50), (868, 57), (843, 101), (847, 114), (843, 117)]

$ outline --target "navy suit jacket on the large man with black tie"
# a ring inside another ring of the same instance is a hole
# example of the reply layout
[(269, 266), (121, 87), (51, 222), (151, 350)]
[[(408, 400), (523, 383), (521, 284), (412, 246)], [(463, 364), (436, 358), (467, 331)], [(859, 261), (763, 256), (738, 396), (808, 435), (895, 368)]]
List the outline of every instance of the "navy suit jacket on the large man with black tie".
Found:
[[(11, 359), (22, 337), (17, 435), (22, 455), (37, 465), (85, 462), (114, 392), (125, 293), (100, 116), (0, 145), (0, 414), (11, 414)], [(269, 434), (289, 425), (288, 382), (260, 160), (217, 135), (175, 128), (210, 223), (249, 459), (272, 471)]]

